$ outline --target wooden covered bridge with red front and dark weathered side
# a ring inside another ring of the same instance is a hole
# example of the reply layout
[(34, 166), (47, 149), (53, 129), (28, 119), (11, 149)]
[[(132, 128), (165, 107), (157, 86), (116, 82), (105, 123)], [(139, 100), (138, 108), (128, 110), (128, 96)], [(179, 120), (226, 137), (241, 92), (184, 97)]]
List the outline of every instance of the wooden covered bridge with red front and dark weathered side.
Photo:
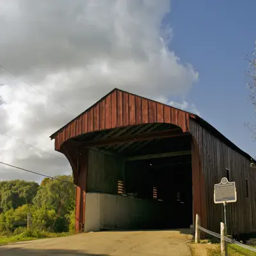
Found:
[(77, 232), (202, 227), (220, 232), (214, 184), (235, 181), (228, 233), (256, 232), (251, 157), (197, 115), (115, 89), (52, 134), (76, 184)]

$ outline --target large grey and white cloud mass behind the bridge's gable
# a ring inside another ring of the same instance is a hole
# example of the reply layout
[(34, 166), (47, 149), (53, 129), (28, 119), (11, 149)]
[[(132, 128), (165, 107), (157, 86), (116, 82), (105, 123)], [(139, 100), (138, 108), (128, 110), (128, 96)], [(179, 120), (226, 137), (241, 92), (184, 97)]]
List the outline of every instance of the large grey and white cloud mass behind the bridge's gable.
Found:
[[(113, 88), (154, 99), (188, 93), (198, 73), (170, 50), (172, 26), (162, 22), (170, 10), (167, 0), (1, 1), (0, 64), (16, 76), (0, 67), (0, 132), (61, 157), (49, 135)], [(0, 150), (23, 168), (71, 172), (66, 160), (8, 137)]]

